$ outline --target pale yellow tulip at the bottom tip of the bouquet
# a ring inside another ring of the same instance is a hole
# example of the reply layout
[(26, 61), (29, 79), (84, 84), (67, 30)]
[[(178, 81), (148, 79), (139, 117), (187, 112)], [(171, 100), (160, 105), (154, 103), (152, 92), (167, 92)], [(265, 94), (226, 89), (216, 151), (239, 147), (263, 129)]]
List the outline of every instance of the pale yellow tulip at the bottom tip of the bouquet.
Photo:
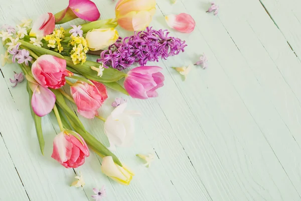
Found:
[(122, 185), (128, 185), (134, 175), (134, 173), (124, 165), (120, 167), (119, 165), (115, 164), (112, 156), (105, 156), (102, 158), (101, 171)]

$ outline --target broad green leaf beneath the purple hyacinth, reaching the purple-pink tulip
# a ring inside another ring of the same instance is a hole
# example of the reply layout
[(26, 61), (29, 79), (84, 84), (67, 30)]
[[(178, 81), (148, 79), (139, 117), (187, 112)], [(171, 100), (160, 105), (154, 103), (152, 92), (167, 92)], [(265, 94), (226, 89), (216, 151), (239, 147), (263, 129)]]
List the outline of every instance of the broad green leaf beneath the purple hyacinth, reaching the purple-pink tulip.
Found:
[(97, 72), (91, 69), (91, 66), (99, 67), (100, 63), (94, 61), (86, 61), (84, 64), (73, 64), (70, 57), (64, 56), (67, 61), (67, 65), (75, 69), (87, 79), (92, 79), (99, 82), (115, 82), (126, 76), (125, 73), (116, 70), (114, 68), (104, 68), (103, 75), (101, 77), (97, 76)]

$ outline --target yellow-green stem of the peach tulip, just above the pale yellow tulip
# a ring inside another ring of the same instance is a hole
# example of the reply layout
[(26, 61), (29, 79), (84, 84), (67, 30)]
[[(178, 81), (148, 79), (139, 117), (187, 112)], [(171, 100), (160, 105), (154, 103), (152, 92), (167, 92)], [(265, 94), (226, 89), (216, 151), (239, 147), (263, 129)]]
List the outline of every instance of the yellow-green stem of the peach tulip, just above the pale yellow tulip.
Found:
[[(107, 29), (107, 28), (115, 28), (117, 27), (117, 22), (115, 19), (107, 19), (107, 20), (97, 20), (94, 22), (88, 22), (85, 24), (82, 24), (82, 28), (81, 30), (83, 30), (83, 33), (87, 33), (88, 31), (92, 30), (92, 29)], [(65, 36), (71, 36), (71, 34), (69, 33), (70, 29), (66, 29), (66, 33)]]

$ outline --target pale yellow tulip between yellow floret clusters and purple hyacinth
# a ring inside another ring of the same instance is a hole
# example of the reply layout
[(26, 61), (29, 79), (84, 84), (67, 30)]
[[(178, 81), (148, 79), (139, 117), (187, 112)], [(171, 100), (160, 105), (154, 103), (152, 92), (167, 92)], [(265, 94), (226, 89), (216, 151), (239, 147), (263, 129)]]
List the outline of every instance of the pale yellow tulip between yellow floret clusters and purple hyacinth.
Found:
[(101, 50), (112, 44), (118, 39), (118, 32), (114, 28), (93, 29), (86, 35), (88, 48), (92, 51)]

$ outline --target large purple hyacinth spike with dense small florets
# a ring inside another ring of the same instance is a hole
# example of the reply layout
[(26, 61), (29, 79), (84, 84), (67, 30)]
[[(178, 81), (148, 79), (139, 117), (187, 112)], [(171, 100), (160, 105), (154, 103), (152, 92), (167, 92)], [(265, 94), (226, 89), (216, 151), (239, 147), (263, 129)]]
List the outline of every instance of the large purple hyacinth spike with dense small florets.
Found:
[(104, 67), (112, 66), (118, 70), (128, 68), (134, 62), (141, 66), (147, 61), (159, 61), (169, 56), (184, 52), (187, 46), (185, 41), (168, 36), (168, 30), (153, 30), (147, 27), (145, 31), (135, 32), (133, 36), (120, 38), (100, 53), (97, 62), (102, 62)]

